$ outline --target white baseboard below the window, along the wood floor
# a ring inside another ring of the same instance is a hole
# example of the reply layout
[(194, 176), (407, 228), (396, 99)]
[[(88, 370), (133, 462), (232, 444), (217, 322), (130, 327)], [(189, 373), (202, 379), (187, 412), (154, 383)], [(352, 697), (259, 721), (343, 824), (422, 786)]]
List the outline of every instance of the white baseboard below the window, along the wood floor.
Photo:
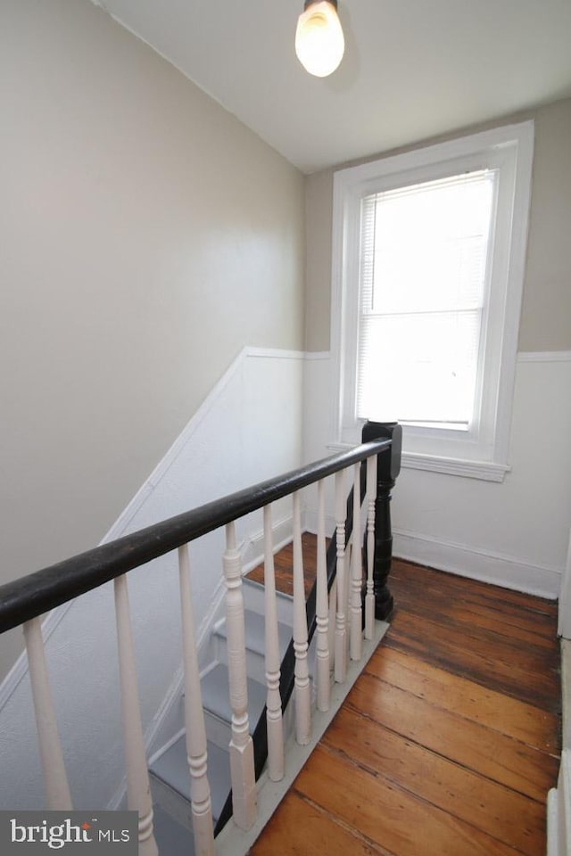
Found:
[(393, 531), (393, 555), (426, 564), (438, 571), (457, 573), (470, 580), (514, 588), (526, 594), (555, 599), (561, 573), (556, 568), (527, 564), (512, 556), (454, 544), (409, 531)]

